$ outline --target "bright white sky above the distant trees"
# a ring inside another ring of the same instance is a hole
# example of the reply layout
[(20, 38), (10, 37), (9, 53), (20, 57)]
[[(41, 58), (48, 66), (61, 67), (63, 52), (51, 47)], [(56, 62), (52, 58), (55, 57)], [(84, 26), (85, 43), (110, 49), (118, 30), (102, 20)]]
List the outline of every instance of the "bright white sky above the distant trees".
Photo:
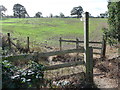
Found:
[(84, 11), (88, 11), (92, 16), (107, 11), (107, 0), (0, 0), (0, 5), (7, 8), (6, 15), (13, 15), (14, 4), (23, 5), (30, 16), (42, 12), (43, 16), (59, 15), (60, 12), (65, 16), (70, 16), (73, 7), (82, 6)]

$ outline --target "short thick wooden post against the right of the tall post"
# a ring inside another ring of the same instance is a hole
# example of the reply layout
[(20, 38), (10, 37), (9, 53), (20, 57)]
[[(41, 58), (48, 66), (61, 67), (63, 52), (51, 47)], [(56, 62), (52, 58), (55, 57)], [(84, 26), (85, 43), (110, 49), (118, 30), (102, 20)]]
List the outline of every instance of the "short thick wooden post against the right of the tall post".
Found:
[(89, 47), (89, 82), (93, 83), (93, 48)]

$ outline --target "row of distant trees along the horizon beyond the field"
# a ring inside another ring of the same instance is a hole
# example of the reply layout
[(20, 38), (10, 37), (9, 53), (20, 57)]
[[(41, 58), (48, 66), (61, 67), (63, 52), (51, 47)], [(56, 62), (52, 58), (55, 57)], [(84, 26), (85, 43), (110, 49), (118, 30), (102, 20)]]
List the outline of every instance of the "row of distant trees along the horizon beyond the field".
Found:
[[(4, 12), (6, 11), (7, 9), (5, 8), (5, 6), (3, 5), (0, 5), (0, 16), (1, 17), (5, 17), (5, 14)], [(81, 6), (78, 6), (78, 7), (73, 7), (73, 9), (71, 10), (70, 12), (70, 15), (71, 16), (65, 16), (64, 13), (60, 12), (59, 15), (53, 15), (52, 13), (50, 13), (49, 18), (81, 18), (82, 17), (82, 13), (83, 13), (83, 8)], [(101, 13), (100, 16), (98, 17), (107, 17), (107, 13)], [(7, 16), (6, 16), (7, 17)], [(9, 16), (8, 16), (9, 17)], [(14, 17), (14, 18), (26, 18), (26, 17), (30, 17), (26, 8), (21, 5), (21, 4), (15, 4), (13, 6), (13, 16), (11, 17)], [(36, 18), (42, 18), (42, 12), (38, 11), (35, 13), (35, 16)], [(94, 17), (94, 16), (91, 16), (90, 14), (90, 17)]]

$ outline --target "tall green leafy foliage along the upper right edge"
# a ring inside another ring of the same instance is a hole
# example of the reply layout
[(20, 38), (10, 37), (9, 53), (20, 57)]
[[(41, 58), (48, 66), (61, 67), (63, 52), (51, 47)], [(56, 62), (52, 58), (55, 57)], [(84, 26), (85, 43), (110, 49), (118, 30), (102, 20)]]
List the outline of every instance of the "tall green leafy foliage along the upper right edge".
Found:
[(108, 37), (120, 42), (120, 1), (108, 2)]

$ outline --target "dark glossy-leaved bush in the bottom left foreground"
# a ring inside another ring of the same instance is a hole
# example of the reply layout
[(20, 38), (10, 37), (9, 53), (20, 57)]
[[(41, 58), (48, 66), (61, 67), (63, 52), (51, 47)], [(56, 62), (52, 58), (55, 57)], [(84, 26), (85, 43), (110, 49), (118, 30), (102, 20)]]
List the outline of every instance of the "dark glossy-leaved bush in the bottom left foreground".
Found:
[(7, 60), (2, 61), (3, 88), (40, 88), (44, 85), (44, 66), (33, 61), (27, 70), (20, 70)]

